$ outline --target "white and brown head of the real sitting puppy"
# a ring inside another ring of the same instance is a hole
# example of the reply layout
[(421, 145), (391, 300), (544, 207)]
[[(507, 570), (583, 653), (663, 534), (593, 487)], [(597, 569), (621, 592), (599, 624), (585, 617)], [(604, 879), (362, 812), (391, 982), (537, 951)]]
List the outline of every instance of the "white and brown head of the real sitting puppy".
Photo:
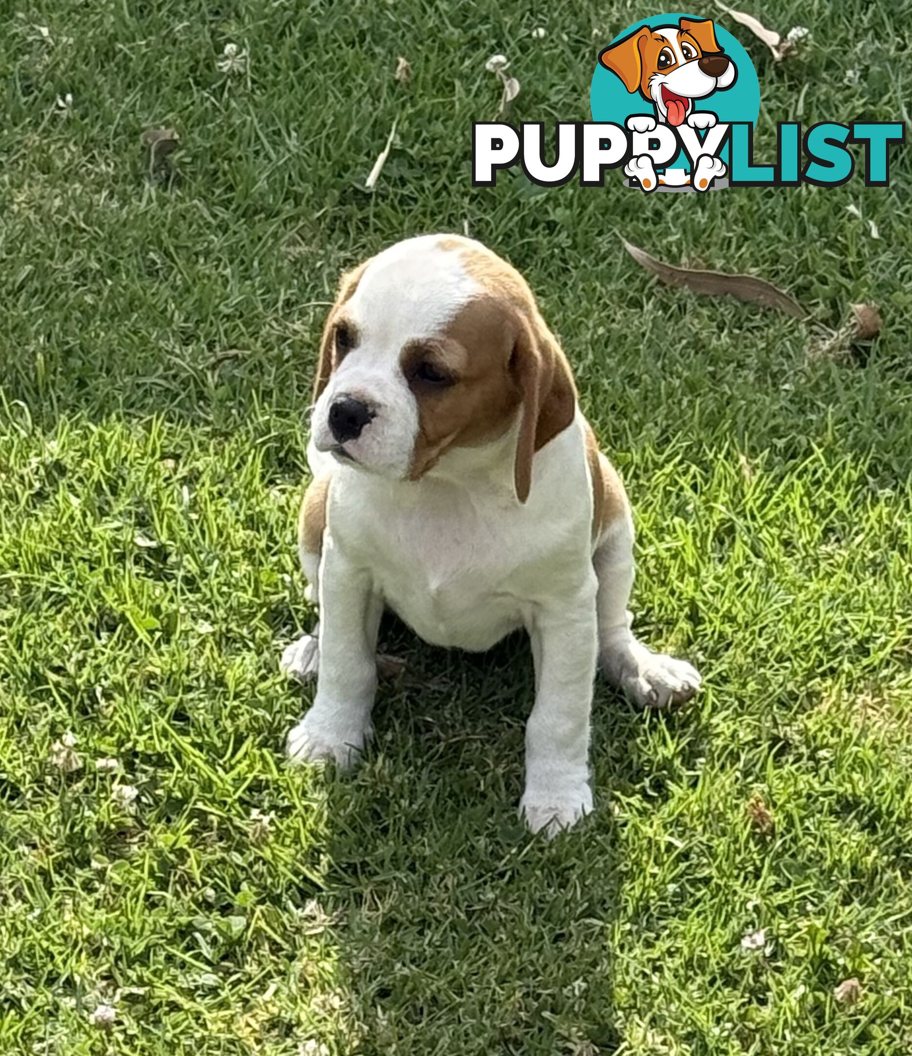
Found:
[(416, 480), (511, 429), (516, 495), (573, 419), (567, 360), (525, 280), (477, 242), (410, 239), (343, 277), (320, 350), (317, 448)]

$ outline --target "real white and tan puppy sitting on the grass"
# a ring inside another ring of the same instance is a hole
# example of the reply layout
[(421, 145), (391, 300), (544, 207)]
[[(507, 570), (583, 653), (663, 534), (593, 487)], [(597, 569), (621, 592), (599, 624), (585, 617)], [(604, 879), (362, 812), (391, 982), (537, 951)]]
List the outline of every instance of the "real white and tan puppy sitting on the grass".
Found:
[(292, 759), (370, 737), (384, 607), (425, 641), (487, 649), (525, 627), (535, 664), (520, 810), (557, 831), (592, 808), (596, 664), (641, 704), (700, 676), (633, 637), (633, 526), (570, 367), (521, 276), (477, 242), (400, 242), (343, 277), (320, 350), (300, 552), (319, 631)]

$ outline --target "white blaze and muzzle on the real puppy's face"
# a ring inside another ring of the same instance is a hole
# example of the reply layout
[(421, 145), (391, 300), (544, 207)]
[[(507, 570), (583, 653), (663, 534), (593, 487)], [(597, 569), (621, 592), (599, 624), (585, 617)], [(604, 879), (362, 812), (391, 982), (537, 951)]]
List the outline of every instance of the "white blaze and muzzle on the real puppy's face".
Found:
[[(410, 239), (367, 265), (339, 312), (352, 346), (339, 356), (314, 408), (319, 450), (399, 479), (410, 473), (419, 431), (418, 401), (402, 369), (403, 348), (438, 335), (480, 291), (460, 254), (439, 243), (436, 235)], [(358, 404), (366, 408), (368, 420), (357, 435), (346, 437), (357, 431)], [(354, 429), (345, 428), (348, 407), (355, 408)]]

